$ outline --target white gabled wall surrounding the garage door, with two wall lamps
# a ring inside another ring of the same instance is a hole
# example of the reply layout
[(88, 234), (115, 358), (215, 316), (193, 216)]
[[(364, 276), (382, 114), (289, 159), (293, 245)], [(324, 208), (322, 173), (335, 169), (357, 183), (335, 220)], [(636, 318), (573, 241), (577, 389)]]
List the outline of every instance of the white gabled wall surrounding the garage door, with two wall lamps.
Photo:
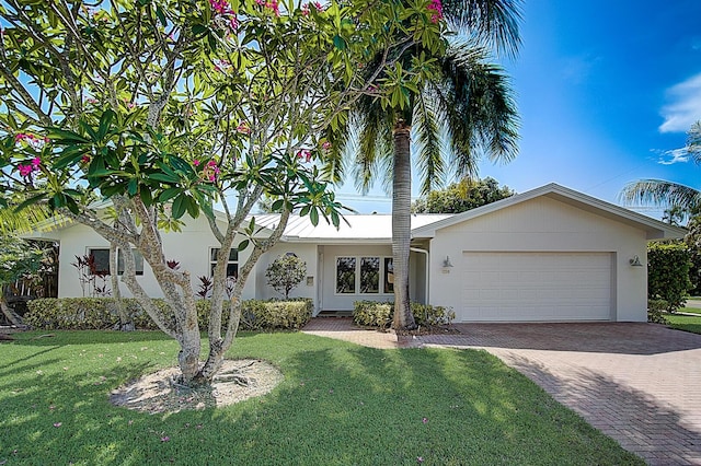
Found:
[[(612, 255), (612, 321), (647, 319), (647, 272), (642, 230), (539, 197), (436, 232), (430, 242), (429, 302), (458, 308), (463, 252), (597, 252)], [(456, 266), (444, 273), (446, 256)]]

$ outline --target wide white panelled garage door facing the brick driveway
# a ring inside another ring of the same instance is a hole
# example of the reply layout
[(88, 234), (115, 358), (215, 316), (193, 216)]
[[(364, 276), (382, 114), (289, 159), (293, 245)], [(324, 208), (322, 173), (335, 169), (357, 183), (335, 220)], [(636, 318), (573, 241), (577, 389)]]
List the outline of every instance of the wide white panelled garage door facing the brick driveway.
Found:
[(610, 253), (463, 253), (457, 322), (610, 321)]

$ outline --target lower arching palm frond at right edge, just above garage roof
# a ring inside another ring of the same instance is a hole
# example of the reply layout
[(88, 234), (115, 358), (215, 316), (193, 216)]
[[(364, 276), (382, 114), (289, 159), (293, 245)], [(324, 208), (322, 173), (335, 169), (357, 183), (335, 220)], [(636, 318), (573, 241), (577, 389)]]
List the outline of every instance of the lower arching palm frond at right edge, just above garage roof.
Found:
[(625, 185), (620, 195), (627, 203), (641, 202), (660, 207), (678, 206), (689, 211), (701, 207), (701, 191), (664, 179), (640, 179)]

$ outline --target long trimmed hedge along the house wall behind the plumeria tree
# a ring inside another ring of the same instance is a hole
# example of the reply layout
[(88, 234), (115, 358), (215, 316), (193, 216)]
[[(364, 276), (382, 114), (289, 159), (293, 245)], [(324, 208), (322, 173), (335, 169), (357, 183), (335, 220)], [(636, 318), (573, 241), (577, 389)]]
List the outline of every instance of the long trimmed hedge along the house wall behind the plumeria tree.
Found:
[[(127, 314), (134, 319), (138, 329), (157, 330), (158, 326), (143, 311), (138, 300), (123, 300)], [(174, 317), (163, 299), (153, 300), (158, 310), (174, 328)], [(209, 325), (209, 300), (196, 302), (199, 328)], [(24, 316), (25, 324), (42, 329), (53, 330), (88, 330), (117, 328), (119, 316), (114, 298), (44, 298), (27, 303), (28, 312)], [(229, 310), (225, 310), (225, 322)], [(249, 300), (241, 304), (242, 330), (296, 330), (311, 319), (313, 305), (311, 300), (258, 301)]]

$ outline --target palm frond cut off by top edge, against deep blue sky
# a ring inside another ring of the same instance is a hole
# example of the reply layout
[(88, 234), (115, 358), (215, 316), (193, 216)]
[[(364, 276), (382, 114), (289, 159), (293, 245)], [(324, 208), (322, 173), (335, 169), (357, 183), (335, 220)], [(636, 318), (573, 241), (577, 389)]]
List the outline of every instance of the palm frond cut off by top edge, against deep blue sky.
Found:
[(443, 0), (443, 10), (452, 28), (467, 33), (498, 55), (518, 55), (520, 0)]

